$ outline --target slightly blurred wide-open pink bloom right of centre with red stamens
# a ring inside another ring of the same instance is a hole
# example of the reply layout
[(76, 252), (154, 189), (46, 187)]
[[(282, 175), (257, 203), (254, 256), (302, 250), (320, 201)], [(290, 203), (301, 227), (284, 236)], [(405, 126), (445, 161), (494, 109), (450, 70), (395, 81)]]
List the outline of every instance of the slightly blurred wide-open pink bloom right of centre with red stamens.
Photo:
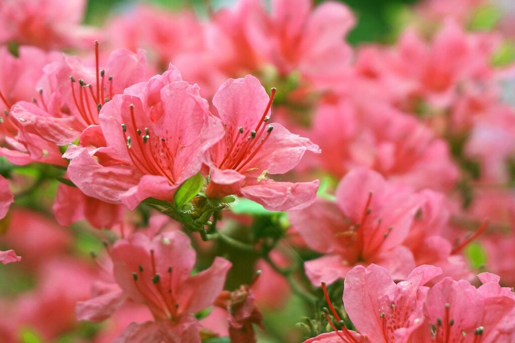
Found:
[(335, 202), (318, 199), (289, 214), (306, 244), (325, 254), (304, 264), (308, 278), (315, 285), (332, 283), (344, 279), (356, 264), (375, 263), (394, 279), (404, 279), (415, 260), (402, 243), (422, 203), (420, 196), (389, 184), (375, 171), (350, 171), (337, 188)]

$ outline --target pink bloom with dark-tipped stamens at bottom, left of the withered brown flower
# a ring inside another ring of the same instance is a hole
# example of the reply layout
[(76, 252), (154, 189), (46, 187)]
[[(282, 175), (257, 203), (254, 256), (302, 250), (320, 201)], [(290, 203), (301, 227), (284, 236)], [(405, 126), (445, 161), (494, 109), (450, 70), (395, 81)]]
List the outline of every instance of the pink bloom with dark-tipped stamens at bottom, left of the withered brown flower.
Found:
[(135, 233), (117, 241), (110, 255), (116, 283), (97, 284), (94, 298), (78, 303), (79, 319), (105, 319), (128, 298), (147, 305), (155, 320), (131, 323), (116, 342), (200, 342), (193, 314), (213, 304), (222, 290), (231, 267), (227, 260), (216, 258), (191, 276), (195, 251), (178, 231), (152, 239)]

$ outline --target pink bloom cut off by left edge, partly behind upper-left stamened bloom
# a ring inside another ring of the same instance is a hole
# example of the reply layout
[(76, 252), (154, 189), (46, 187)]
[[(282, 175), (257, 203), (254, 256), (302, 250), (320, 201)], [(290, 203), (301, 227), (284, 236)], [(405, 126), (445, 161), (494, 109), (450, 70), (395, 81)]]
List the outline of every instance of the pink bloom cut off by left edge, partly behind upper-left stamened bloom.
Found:
[(59, 148), (36, 134), (23, 132), (11, 115), (12, 106), (18, 101), (31, 101), (39, 97), (36, 84), (43, 75), (43, 66), (57, 61), (58, 53), (21, 46), (19, 57), (12, 56), (6, 47), (0, 47), (0, 155), (16, 165), (33, 161), (65, 164)]

